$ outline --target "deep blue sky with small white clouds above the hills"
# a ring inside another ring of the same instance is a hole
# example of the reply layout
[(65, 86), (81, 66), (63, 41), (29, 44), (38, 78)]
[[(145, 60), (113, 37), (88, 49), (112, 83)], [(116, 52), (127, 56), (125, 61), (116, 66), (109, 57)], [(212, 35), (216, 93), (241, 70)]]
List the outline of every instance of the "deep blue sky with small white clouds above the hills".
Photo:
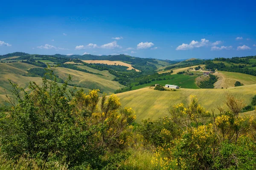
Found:
[(256, 55), (256, 2), (2, 1), (0, 55)]

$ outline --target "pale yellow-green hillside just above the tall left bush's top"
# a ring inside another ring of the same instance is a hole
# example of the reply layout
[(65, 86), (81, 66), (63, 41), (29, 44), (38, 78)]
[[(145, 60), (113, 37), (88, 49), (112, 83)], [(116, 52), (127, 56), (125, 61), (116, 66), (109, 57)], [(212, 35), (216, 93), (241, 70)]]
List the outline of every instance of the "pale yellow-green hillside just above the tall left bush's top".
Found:
[(101, 92), (113, 93), (116, 89), (125, 87), (120, 85), (118, 82), (111, 81), (109, 77), (84, 73), (82, 71), (76, 71), (69, 68), (57, 67), (54, 72), (61, 79), (67, 79), (70, 74), (72, 77), (72, 82), (70, 83), (73, 85), (80, 85), (81, 87), (90, 89), (100, 89)]

